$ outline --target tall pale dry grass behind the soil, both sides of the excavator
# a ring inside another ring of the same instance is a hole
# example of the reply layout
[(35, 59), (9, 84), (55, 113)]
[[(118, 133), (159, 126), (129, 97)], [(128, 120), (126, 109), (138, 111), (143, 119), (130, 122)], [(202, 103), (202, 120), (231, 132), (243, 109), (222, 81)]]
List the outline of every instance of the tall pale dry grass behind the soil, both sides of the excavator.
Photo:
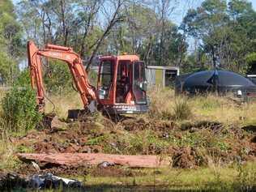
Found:
[[(173, 121), (211, 121), (230, 124), (251, 124), (256, 122), (256, 102), (239, 103), (230, 97), (214, 95), (187, 98), (175, 96), (173, 89), (156, 87), (148, 92), (151, 105), (146, 118)], [(53, 104), (49, 101), (51, 100)], [(61, 118), (67, 117), (69, 109), (83, 109), (77, 92), (49, 96), (46, 100), (46, 113), (55, 112)]]

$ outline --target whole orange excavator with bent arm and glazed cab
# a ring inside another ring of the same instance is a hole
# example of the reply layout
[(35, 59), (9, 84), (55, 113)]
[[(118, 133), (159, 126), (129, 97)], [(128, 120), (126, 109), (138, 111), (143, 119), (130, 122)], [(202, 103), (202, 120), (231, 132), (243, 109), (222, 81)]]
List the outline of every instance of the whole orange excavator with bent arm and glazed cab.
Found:
[(28, 41), (27, 46), (31, 83), (32, 88), (36, 89), (39, 111), (43, 112), (45, 108), (41, 57), (46, 57), (67, 63), (83, 101), (84, 109), (69, 110), (69, 118), (77, 118), (81, 113), (94, 112), (96, 109), (110, 115), (147, 112), (146, 66), (139, 61), (138, 56), (100, 57), (97, 86), (93, 87), (89, 83), (82, 59), (70, 47), (45, 45), (44, 49), (38, 49), (32, 41)]

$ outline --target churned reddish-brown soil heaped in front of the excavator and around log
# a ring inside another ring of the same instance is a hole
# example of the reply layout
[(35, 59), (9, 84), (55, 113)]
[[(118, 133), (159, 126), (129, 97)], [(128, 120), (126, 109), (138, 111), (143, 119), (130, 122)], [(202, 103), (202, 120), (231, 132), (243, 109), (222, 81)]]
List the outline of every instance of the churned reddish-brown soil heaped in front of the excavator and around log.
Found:
[[(105, 152), (170, 156), (173, 167), (182, 169), (193, 169), (217, 161), (230, 164), (255, 160), (256, 156), (256, 135), (251, 127), (226, 127), (219, 122), (187, 122), (177, 125), (174, 122), (143, 118), (128, 118), (117, 124), (105, 118), (87, 118), (79, 122), (62, 122), (61, 125), (56, 123), (47, 129), (33, 130), (26, 136), (12, 141), (19, 146), (19, 152)], [(143, 140), (136, 140), (148, 131), (154, 133), (153, 139), (156, 141), (148, 139), (149, 144), (143, 145)], [(127, 135), (133, 139), (130, 143), (127, 142)], [(39, 165), (42, 172), (62, 175), (84, 175), (89, 170)], [(24, 169), (19, 170), (20, 174), (35, 172), (31, 164), (23, 166)], [(103, 177), (134, 174), (116, 167), (92, 170), (93, 176)]]

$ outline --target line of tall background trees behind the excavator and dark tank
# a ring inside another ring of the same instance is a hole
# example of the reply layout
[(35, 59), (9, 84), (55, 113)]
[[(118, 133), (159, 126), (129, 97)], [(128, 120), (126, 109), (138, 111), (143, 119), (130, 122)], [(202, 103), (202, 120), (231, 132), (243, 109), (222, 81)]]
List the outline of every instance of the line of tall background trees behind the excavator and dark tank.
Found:
[[(172, 20), (177, 3), (19, 0), (14, 5), (11, 0), (1, 1), (0, 75), (9, 84), (23, 79), (19, 65), (26, 62), (28, 40), (40, 47), (47, 43), (70, 46), (89, 65), (96, 55), (133, 53), (147, 65), (181, 66), (186, 72), (219, 66), (252, 73), (256, 12), (251, 2), (204, 0), (187, 11), (180, 26)], [(54, 75), (46, 79), (46, 87), (65, 87), (70, 82), (66, 66), (45, 61), (45, 78)]]

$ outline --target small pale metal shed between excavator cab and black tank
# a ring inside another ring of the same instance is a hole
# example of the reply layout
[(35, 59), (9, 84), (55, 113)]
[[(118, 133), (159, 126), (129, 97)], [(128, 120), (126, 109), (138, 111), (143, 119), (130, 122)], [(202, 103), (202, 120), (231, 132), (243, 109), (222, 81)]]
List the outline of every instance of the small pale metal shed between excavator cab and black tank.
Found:
[(169, 87), (180, 74), (178, 66), (147, 66), (146, 76), (148, 86)]

